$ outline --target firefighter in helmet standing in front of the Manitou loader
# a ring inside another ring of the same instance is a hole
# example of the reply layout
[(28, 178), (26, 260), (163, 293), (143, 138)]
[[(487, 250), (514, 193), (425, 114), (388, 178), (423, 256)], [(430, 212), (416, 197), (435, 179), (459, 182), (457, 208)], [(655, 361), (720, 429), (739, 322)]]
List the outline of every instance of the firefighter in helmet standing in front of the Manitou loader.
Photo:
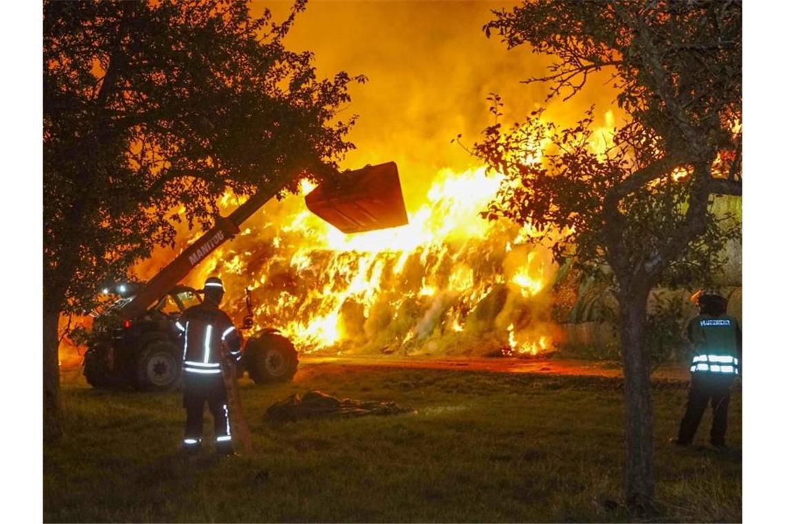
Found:
[[(230, 413), (221, 376), (221, 359), (241, 357), (241, 336), (230, 317), (219, 310), (224, 284), (219, 277), (204, 283), (204, 302), (185, 310), (175, 324), (183, 332), (183, 449), (195, 453), (202, 445), (204, 405), (213, 416), (215, 450), (233, 453)], [(222, 350), (226, 346), (226, 352)]]

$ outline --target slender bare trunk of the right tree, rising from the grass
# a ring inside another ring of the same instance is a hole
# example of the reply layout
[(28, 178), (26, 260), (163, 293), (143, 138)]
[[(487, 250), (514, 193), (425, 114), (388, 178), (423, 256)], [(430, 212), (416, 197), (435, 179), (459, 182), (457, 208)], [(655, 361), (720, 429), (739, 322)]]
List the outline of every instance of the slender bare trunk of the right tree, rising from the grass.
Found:
[(652, 403), (645, 354), (648, 290), (620, 294), (620, 320), (625, 372), (626, 504), (635, 513), (652, 511), (655, 478), (652, 468)]

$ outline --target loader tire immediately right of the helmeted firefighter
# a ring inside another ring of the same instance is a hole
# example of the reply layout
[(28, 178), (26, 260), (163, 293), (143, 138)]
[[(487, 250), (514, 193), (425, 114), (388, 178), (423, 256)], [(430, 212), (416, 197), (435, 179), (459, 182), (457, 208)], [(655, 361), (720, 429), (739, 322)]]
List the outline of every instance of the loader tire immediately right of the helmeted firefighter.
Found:
[(257, 384), (288, 382), (297, 371), (297, 350), (281, 333), (265, 332), (248, 339), (243, 365)]

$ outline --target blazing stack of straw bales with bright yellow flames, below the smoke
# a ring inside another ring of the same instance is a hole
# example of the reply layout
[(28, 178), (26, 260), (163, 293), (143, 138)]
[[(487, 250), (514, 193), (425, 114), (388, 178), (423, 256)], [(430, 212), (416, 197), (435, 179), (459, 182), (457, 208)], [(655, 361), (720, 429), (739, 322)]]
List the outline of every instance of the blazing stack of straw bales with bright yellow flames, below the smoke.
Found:
[(248, 288), (259, 328), (279, 328), (303, 353), (538, 354), (558, 333), (556, 266), (527, 243), (530, 228), (479, 216), (500, 182), (483, 167), (440, 170), (409, 225), (354, 235), (289, 196), (263, 207), (189, 282), (219, 274), (236, 321)]

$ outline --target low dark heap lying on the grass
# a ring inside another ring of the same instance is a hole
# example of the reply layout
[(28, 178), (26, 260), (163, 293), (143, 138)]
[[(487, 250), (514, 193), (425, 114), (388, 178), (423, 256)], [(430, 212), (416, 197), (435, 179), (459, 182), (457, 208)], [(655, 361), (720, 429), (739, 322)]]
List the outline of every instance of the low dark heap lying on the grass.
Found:
[(321, 391), (308, 391), (301, 397), (292, 394), (277, 401), (267, 409), (263, 420), (267, 422), (296, 422), (300, 419), (322, 417), (354, 417), (364, 415), (398, 415), (414, 411), (391, 401), (358, 401), (351, 398), (336, 398)]

